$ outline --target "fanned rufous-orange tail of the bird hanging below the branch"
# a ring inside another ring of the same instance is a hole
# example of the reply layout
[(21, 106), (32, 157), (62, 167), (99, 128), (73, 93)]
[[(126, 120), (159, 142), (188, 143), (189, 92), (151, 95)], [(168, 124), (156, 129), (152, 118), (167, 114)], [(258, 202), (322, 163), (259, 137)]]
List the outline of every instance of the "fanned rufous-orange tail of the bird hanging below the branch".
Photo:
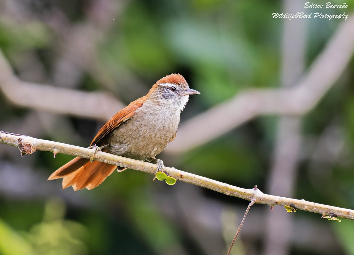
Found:
[(63, 189), (91, 190), (101, 184), (117, 168), (100, 161), (90, 162), (89, 159), (76, 157), (51, 174), (48, 180), (63, 178)]

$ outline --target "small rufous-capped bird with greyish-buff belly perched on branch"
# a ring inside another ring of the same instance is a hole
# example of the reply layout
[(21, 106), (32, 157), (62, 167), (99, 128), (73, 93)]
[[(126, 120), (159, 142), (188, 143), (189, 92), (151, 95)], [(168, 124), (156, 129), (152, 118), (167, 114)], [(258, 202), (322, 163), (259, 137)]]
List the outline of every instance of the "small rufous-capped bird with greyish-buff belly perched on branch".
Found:
[(158, 171), (164, 163), (156, 159), (177, 134), (179, 114), (187, 104), (189, 95), (200, 94), (190, 89), (182, 75), (171, 74), (161, 78), (148, 94), (131, 102), (117, 112), (98, 131), (90, 147), (91, 159), (76, 157), (51, 174), (48, 180), (63, 178), (63, 189), (91, 190), (101, 184), (117, 167), (93, 161), (98, 150), (137, 160), (155, 161)]

